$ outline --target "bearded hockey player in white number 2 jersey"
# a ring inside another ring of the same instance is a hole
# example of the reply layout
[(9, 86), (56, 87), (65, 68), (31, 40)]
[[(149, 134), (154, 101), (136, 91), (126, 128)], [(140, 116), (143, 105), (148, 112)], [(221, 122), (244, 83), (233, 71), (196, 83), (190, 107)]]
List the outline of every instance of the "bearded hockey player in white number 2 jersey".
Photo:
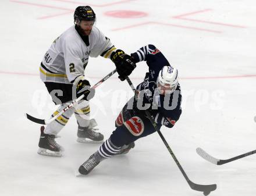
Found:
[[(93, 98), (94, 90), (86, 80), (86, 69), (89, 56), (102, 56), (115, 63), (120, 80), (125, 80), (135, 63), (130, 56), (120, 49), (116, 49), (109, 38), (94, 26), (95, 13), (90, 6), (79, 6), (74, 11), (74, 26), (68, 28), (52, 43), (45, 53), (40, 66), (40, 77), (44, 82), (52, 101), (59, 108), (52, 117), (62, 111), (72, 100), (85, 95), (76, 108), (70, 108), (54, 122), (41, 127), (38, 154), (62, 156), (63, 148), (57, 144), (55, 138), (66, 125), (69, 117), (75, 115), (78, 130), (77, 141), (102, 141), (104, 136), (96, 132), (97, 123), (90, 119), (89, 99)], [(86, 89), (86, 90), (84, 90)]]

